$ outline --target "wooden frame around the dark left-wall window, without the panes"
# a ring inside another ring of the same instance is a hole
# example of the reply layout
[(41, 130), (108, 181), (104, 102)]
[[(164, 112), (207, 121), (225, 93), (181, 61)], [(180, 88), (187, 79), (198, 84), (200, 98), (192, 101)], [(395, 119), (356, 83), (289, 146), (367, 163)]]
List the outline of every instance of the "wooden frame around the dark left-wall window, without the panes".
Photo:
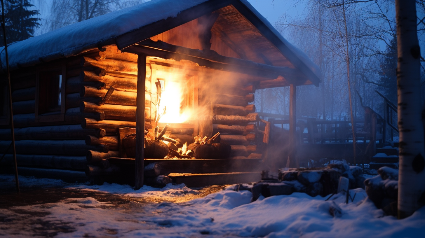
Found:
[[(40, 112), (41, 106), (40, 101), (47, 100), (44, 98), (40, 100), (41, 97), (47, 97), (47, 94), (40, 94), (40, 84), (42, 84), (41, 77), (44, 77), (43, 74), (49, 75), (54, 72), (61, 72), (59, 75), (62, 76), (61, 79), (61, 104), (60, 109), (58, 110), (49, 110), (47, 112)], [(35, 122), (63, 122), (65, 121), (65, 99), (66, 99), (66, 65), (62, 64), (57, 67), (51, 68), (39, 68), (36, 70), (35, 74)]]

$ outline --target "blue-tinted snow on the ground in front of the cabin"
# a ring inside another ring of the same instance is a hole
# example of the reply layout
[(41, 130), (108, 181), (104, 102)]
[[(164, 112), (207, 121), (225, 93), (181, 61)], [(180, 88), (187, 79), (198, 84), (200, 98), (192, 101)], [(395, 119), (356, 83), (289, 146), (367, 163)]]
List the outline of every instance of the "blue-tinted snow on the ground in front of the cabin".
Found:
[[(13, 176), (0, 176), (0, 182), (12, 181)], [(348, 204), (343, 195), (325, 201), (327, 197), (304, 193), (261, 197), (251, 203), (251, 192), (236, 192), (230, 190), (232, 186), (190, 200), (184, 198), (201, 192), (183, 184), (134, 191), (119, 184), (65, 184), (28, 177), (20, 181), (31, 187), (61, 186), (72, 193), (106, 193), (128, 202), (115, 204), (88, 196), (3, 207), (0, 235), (5, 237), (422, 238), (425, 232), (425, 207), (403, 220), (383, 216), (382, 210), (365, 198), (363, 189), (351, 190), (355, 197)], [(138, 200), (146, 197), (161, 197), (162, 201)], [(183, 202), (170, 202), (176, 198)], [(341, 212), (332, 216), (330, 210)]]

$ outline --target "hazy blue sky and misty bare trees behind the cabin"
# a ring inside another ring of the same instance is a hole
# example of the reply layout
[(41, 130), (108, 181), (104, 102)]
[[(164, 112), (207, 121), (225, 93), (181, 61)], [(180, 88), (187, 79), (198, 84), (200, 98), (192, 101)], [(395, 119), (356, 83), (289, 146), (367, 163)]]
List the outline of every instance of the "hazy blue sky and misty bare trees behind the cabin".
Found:
[[(40, 10), (42, 34), (71, 23), (133, 6), (147, 0), (96, 0), (99, 4), (79, 10), (80, 0), (31, 0)], [(353, 113), (361, 119), (363, 104), (383, 116), (380, 91), (395, 104), (397, 44), (394, 1), (377, 0), (335, 6), (339, 0), (248, 0), (289, 42), (305, 52), (323, 71), (319, 87), (297, 87), (297, 118), (345, 119), (350, 117), (348, 72), (351, 76)], [(80, 12), (79, 12), (80, 11)], [(419, 19), (425, 17), (423, 0), (417, 1)], [(423, 20), (425, 22), (425, 20)], [(422, 57), (425, 55), (425, 23), (418, 20)], [(348, 43), (348, 48), (346, 47)], [(349, 71), (348, 71), (348, 66)], [(425, 82), (422, 62), (421, 82)], [(422, 92), (425, 85), (421, 85)], [(422, 94), (425, 95), (425, 94)], [(257, 111), (289, 114), (289, 87), (257, 90)], [(424, 96), (422, 96), (422, 101)]]

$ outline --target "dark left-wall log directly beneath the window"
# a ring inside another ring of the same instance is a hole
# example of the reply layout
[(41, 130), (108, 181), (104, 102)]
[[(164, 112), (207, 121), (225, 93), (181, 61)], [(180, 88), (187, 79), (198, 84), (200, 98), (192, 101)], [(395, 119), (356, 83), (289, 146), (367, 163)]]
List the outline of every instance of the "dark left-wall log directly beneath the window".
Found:
[[(92, 129), (83, 129), (81, 125), (59, 125), (15, 128), (16, 140), (67, 140), (85, 139), (86, 136), (96, 136)], [(2, 140), (11, 140), (10, 129), (0, 129)]]

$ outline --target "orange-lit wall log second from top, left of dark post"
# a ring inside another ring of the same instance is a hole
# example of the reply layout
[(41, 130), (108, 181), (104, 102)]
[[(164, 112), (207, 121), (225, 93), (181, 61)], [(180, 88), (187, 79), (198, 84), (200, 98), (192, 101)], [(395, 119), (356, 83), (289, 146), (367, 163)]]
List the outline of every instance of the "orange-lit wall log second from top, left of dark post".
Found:
[(105, 59), (103, 61), (96, 61), (88, 57), (81, 58), (82, 67), (97, 67), (105, 68), (107, 72), (116, 71), (124, 74), (137, 75), (137, 63), (122, 61), (117, 59)]

